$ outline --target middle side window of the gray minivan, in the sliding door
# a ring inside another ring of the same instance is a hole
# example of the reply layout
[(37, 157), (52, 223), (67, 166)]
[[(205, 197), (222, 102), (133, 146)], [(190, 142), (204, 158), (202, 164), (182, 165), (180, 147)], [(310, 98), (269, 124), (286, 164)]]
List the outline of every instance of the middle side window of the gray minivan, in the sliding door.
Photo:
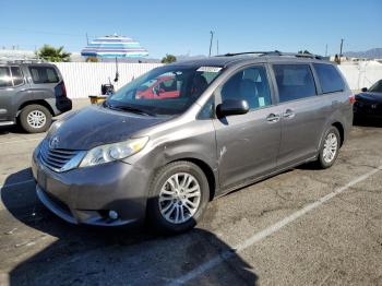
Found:
[(274, 64), (280, 103), (317, 95), (309, 64)]

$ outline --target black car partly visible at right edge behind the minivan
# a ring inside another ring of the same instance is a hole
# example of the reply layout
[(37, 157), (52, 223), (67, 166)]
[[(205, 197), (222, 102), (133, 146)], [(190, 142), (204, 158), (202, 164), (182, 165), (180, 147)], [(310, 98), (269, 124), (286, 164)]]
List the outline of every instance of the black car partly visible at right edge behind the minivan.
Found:
[(355, 119), (382, 119), (382, 80), (374, 83), (369, 90), (363, 87), (362, 93), (356, 95), (354, 104)]

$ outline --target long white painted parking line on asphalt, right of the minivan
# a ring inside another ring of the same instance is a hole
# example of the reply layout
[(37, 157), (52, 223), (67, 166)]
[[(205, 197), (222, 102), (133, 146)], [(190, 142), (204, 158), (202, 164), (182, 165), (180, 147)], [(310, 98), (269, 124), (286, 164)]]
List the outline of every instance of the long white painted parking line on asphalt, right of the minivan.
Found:
[(199, 265), (194, 270), (190, 271), (189, 273), (187, 273), (187, 274), (176, 278), (175, 281), (169, 283), (169, 285), (172, 286), (172, 285), (184, 284), (184, 283), (187, 283), (187, 282), (189, 282), (189, 281), (191, 281), (193, 278), (196, 278), (198, 276), (204, 274), (208, 270), (217, 266), (218, 264), (220, 264), (225, 260), (228, 260), (228, 259), (232, 258), (234, 255), (236, 255), (236, 253), (238, 253), (240, 251), (243, 251), (247, 248), (249, 248), (249, 247), (255, 245), (256, 242), (263, 240), (264, 238), (266, 238), (266, 237), (277, 233), (279, 229), (282, 229), (283, 227), (291, 224), (297, 218), (299, 218), (302, 215), (313, 211), (314, 208), (317, 208), (320, 205), (322, 205), (323, 203), (330, 201), (331, 199), (333, 199), (337, 194), (339, 194), (339, 193), (348, 190), (353, 186), (355, 186), (355, 184), (357, 184), (357, 183), (368, 179), (369, 177), (373, 176), (374, 174), (377, 174), (380, 170), (382, 170), (382, 165), (379, 166), (378, 168), (369, 171), (369, 172), (363, 174), (360, 177), (357, 177), (356, 179), (351, 180), (347, 184), (335, 189), (333, 192), (331, 192), (331, 193), (329, 193), (329, 194), (326, 194), (324, 196), (321, 196), (315, 202), (303, 206), (299, 211), (293, 213), (291, 215), (288, 215), (287, 217), (283, 218), (282, 221), (278, 221), (277, 223), (271, 225), (270, 227), (261, 230), (260, 233), (254, 234), (253, 236), (249, 237), (248, 239), (246, 239), (241, 243), (239, 243), (236, 247), (234, 247), (231, 250), (224, 251), (224, 252), (219, 253), (218, 255), (212, 258), (211, 260), (202, 263), (201, 265)]

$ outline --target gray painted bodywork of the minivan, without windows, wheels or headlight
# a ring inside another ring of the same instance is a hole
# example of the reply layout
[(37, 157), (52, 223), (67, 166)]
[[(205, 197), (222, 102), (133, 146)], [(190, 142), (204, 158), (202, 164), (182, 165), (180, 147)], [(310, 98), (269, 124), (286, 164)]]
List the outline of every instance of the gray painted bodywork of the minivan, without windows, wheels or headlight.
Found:
[[(277, 88), (271, 69), (271, 64), (276, 62), (311, 64), (323, 61), (283, 57), (216, 57), (174, 63), (195, 67), (218, 65), (224, 70), (199, 99), (178, 117), (150, 118), (114, 111), (102, 106), (83, 109), (70, 116), (67, 122), (63, 120), (62, 127), (57, 132), (48, 135), (59, 136), (60, 147), (88, 150), (96, 145), (140, 136), (148, 136), (150, 141), (141, 152), (122, 162), (73, 169), (64, 174), (41, 171), (38, 159), (34, 158), (34, 176), (38, 180), (37, 174), (46, 172), (52, 181), (57, 180), (58, 182), (52, 182), (51, 186), (57, 183), (60, 187), (47, 188), (45, 191), (65, 201), (74, 208), (74, 213), (84, 208), (81, 204), (88, 204), (87, 210), (89, 207), (110, 210), (108, 207), (115, 201), (120, 203), (112, 204), (114, 207), (126, 210), (123, 207), (132, 198), (133, 205), (138, 206), (134, 208), (136, 212), (133, 212), (136, 219), (129, 213), (122, 217), (122, 222), (141, 221), (145, 214), (146, 202), (151, 199), (151, 182), (157, 170), (170, 162), (186, 159), (199, 164), (206, 171), (208, 179), (215, 182), (213, 192), (214, 196), (218, 196), (314, 159), (324, 132), (334, 123), (343, 127), (346, 140), (353, 122), (349, 103), (351, 93), (348, 87), (346, 86), (341, 93), (323, 95), (317, 75), (313, 74), (318, 88), (317, 96), (278, 104)], [(198, 119), (199, 112), (212, 96), (216, 105), (220, 103), (219, 86), (236, 71), (252, 64), (265, 65), (273, 105), (241, 116)], [(294, 118), (283, 117), (287, 109), (295, 111)], [(266, 117), (270, 114), (279, 115), (280, 120), (276, 123), (267, 122)], [(89, 117), (94, 122), (89, 122)], [(112, 169), (112, 166), (119, 167)], [(60, 189), (71, 190), (71, 199), (61, 196), (58, 191)], [(86, 189), (85, 193), (94, 200), (95, 205), (83, 202), (89, 200), (87, 196), (77, 196), (76, 192), (82, 192), (82, 189)], [(92, 195), (93, 189), (94, 195)], [(100, 198), (97, 196), (98, 190), (103, 190)], [(49, 202), (45, 204), (55, 210), (55, 205)], [(76, 222), (105, 225), (81, 217)]]

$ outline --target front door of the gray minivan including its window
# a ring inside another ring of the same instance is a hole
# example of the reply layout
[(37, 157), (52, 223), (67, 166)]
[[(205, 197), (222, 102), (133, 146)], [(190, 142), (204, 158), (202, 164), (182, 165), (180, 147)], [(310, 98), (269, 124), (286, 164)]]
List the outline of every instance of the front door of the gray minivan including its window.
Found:
[(250, 107), (246, 115), (214, 120), (223, 190), (253, 180), (276, 167), (280, 117), (271, 91), (262, 64), (237, 71), (216, 91), (222, 102), (244, 99)]

